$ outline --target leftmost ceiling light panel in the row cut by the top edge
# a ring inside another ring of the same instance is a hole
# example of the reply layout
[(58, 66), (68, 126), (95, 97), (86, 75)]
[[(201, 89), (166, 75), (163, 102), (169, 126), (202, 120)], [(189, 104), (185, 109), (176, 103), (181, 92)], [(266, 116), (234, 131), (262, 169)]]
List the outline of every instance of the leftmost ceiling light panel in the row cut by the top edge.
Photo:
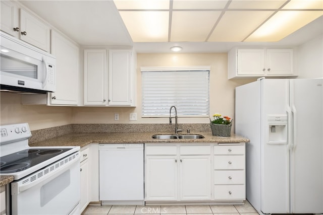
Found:
[(169, 10), (169, 0), (114, 0), (118, 10)]

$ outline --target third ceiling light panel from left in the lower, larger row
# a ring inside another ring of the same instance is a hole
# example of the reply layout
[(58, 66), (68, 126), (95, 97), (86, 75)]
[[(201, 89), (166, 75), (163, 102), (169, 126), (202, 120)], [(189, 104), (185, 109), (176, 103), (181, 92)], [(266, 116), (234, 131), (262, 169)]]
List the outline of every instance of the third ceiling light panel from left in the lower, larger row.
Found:
[(271, 11), (226, 12), (208, 42), (241, 42), (272, 14)]

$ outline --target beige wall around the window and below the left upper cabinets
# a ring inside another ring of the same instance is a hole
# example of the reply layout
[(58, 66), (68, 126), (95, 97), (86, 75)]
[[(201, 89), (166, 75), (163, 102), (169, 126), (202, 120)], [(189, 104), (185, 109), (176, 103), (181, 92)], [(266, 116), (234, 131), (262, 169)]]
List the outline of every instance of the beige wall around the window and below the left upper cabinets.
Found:
[[(71, 123), (169, 123), (168, 118), (141, 118), (141, 66), (211, 66), (210, 114), (234, 118), (234, 90), (251, 80), (227, 80), (227, 53), (138, 54), (137, 107), (49, 107), (21, 105), (20, 95), (1, 93), (1, 124), (28, 122), (31, 130)], [(129, 113), (137, 121), (129, 121)], [(114, 120), (119, 113), (120, 120)], [(208, 123), (208, 118), (180, 118), (179, 123)]]

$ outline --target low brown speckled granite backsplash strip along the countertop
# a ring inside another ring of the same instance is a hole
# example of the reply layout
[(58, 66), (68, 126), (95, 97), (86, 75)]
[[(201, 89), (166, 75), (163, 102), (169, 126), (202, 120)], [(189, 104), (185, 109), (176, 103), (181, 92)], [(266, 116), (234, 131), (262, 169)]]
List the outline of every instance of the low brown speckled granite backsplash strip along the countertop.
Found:
[[(199, 124), (178, 124), (182, 133), (211, 132), (208, 123)], [(39, 130), (32, 130), (32, 136), (29, 142), (39, 142), (69, 133), (139, 133), (139, 132), (156, 132), (156, 133), (173, 133), (175, 124), (69, 124)]]

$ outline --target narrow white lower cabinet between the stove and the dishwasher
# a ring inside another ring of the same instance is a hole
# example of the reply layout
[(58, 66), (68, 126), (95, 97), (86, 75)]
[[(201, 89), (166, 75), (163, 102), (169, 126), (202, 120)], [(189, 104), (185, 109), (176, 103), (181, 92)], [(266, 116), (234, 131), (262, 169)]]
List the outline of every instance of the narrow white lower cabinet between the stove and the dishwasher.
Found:
[(89, 190), (89, 148), (81, 150), (81, 164), (80, 164), (80, 184), (81, 184), (81, 199), (80, 211), (83, 211), (88, 203), (90, 203)]

